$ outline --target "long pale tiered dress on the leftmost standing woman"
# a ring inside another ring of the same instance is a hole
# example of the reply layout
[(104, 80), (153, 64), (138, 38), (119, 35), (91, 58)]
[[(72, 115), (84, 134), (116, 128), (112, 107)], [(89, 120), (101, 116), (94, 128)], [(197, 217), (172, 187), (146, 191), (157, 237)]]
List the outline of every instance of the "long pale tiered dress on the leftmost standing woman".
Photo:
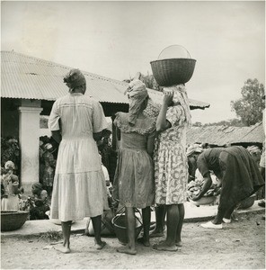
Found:
[(101, 160), (93, 133), (107, 128), (102, 105), (88, 95), (59, 98), (49, 115), (49, 130), (61, 130), (50, 218), (83, 220), (107, 209)]

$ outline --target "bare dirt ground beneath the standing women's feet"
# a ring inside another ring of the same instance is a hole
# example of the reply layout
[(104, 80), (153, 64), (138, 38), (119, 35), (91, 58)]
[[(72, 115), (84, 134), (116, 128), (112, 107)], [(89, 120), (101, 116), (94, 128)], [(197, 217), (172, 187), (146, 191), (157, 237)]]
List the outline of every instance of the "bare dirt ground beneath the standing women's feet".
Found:
[[(176, 252), (137, 245), (137, 255), (116, 251), (117, 238), (93, 247), (93, 237), (71, 235), (70, 254), (50, 245), (52, 232), (39, 237), (1, 238), (1, 269), (265, 269), (265, 220), (251, 212), (224, 229), (203, 229), (200, 222), (184, 223), (183, 247)], [(155, 244), (162, 238), (152, 238)], [(55, 240), (53, 238), (52, 240)]]

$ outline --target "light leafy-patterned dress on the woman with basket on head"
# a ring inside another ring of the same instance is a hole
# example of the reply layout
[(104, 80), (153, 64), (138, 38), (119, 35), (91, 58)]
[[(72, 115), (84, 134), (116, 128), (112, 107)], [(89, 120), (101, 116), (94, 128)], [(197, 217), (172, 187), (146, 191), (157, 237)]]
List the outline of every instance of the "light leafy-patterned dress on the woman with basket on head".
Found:
[(155, 144), (155, 203), (179, 204), (186, 202), (188, 183), (187, 122), (182, 106), (169, 107), (166, 119), (172, 127), (161, 132)]

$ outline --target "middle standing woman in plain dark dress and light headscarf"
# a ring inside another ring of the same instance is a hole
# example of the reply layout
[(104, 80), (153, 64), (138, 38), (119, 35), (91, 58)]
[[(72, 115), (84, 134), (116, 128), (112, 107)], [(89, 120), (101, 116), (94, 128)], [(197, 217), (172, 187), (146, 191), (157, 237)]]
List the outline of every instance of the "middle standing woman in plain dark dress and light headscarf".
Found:
[(121, 142), (113, 184), (113, 197), (126, 208), (129, 243), (118, 252), (137, 254), (134, 208), (142, 209), (144, 235), (139, 241), (148, 247), (150, 206), (154, 203), (154, 167), (152, 153), (155, 139), (155, 118), (146, 117), (148, 94), (138, 79), (128, 88), (129, 113), (118, 112), (114, 124), (120, 130)]

